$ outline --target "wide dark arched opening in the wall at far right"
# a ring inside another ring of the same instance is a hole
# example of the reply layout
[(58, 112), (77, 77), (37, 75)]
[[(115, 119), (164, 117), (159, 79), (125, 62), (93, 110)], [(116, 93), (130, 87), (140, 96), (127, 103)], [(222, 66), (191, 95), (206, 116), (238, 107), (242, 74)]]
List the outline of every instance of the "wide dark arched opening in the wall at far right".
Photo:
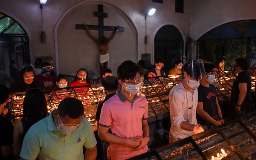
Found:
[(256, 20), (232, 21), (215, 27), (197, 40), (197, 56), (215, 64), (226, 59), (225, 69), (231, 69), (238, 57), (256, 67)]

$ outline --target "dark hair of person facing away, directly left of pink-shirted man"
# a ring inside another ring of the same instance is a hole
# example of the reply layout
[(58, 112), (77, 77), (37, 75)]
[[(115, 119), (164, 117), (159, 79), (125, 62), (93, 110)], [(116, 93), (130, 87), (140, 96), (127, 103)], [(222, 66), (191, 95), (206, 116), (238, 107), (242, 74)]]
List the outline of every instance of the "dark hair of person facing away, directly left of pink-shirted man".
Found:
[(107, 91), (115, 91), (118, 88), (118, 80), (112, 75), (103, 78), (101, 84)]

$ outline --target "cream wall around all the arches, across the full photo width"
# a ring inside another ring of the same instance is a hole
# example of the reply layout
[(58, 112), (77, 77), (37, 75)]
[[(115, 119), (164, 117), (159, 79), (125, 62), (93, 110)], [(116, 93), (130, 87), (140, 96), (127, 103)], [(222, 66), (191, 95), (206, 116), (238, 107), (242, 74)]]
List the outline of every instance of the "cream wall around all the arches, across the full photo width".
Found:
[[(164, 4), (154, 3), (151, 0), (48, 0), (43, 6), (43, 30), (46, 32), (47, 40), (47, 43), (43, 44), (40, 43), (41, 13), (38, 1), (1, 0), (0, 5), (0, 12), (12, 16), (28, 32), (32, 62), (34, 57), (41, 55), (55, 58), (53, 33), (55, 25), (59, 26), (72, 6), (87, 2), (100, 1), (114, 5), (132, 21), (138, 32), (137, 60), (140, 59), (141, 53), (151, 53), (153, 58), (154, 36), (164, 24), (176, 26), (182, 32), (183, 38), (189, 36), (196, 40), (205, 32), (226, 22), (256, 18), (256, 0), (184, 0), (184, 14), (175, 12), (175, 0), (164, 0)], [(147, 18), (149, 44), (144, 44), (144, 14), (151, 7), (155, 7), (157, 11), (154, 16)], [(113, 42), (110, 47), (115, 45), (116, 43)], [(91, 49), (94, 51), (97, 48), (95, 46)], [(58, 48), (56, 50), (58, 51)], [(194, 55), (195, 51), (196, 49)]]

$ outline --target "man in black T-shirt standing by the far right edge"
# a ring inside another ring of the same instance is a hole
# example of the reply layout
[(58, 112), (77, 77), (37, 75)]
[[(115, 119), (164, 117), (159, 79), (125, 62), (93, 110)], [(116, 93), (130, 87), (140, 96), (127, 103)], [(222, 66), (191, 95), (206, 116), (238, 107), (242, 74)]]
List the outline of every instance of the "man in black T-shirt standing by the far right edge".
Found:
[(235, 59), (233, 70), (238, 73), (231, 90), (231, 117), (245, 116), (251, 111), (251, 75), (246, 71), (248, 63), (246, 59)]

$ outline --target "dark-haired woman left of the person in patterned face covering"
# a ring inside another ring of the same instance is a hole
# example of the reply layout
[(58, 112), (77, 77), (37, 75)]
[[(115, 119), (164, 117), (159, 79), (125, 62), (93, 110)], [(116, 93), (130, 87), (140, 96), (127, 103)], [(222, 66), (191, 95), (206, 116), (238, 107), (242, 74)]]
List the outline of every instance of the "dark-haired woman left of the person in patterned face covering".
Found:
[(25, 65), (21, 69), (19, 83), (11, 86), (11, 92), (28, 91), (30, 88), (38, 88), (36, 75), (32, 65)]

